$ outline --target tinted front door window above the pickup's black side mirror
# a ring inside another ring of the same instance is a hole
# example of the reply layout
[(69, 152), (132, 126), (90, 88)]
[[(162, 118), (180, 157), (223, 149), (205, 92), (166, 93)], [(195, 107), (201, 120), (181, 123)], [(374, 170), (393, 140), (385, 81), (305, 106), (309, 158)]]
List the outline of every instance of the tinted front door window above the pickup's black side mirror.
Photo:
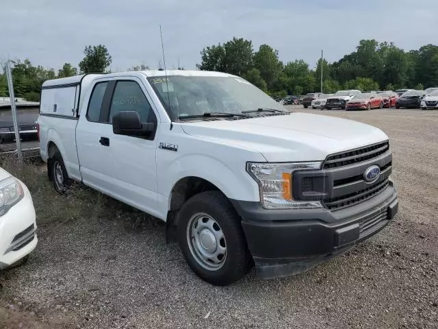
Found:
[(149, 101), (137, 82), (117, 82), (111, 102), (110, 122), (112, 122), (115, 114), (122, 111), (138, 112), (142, 122), (148, 122), (149, 115), (153, 113)]

